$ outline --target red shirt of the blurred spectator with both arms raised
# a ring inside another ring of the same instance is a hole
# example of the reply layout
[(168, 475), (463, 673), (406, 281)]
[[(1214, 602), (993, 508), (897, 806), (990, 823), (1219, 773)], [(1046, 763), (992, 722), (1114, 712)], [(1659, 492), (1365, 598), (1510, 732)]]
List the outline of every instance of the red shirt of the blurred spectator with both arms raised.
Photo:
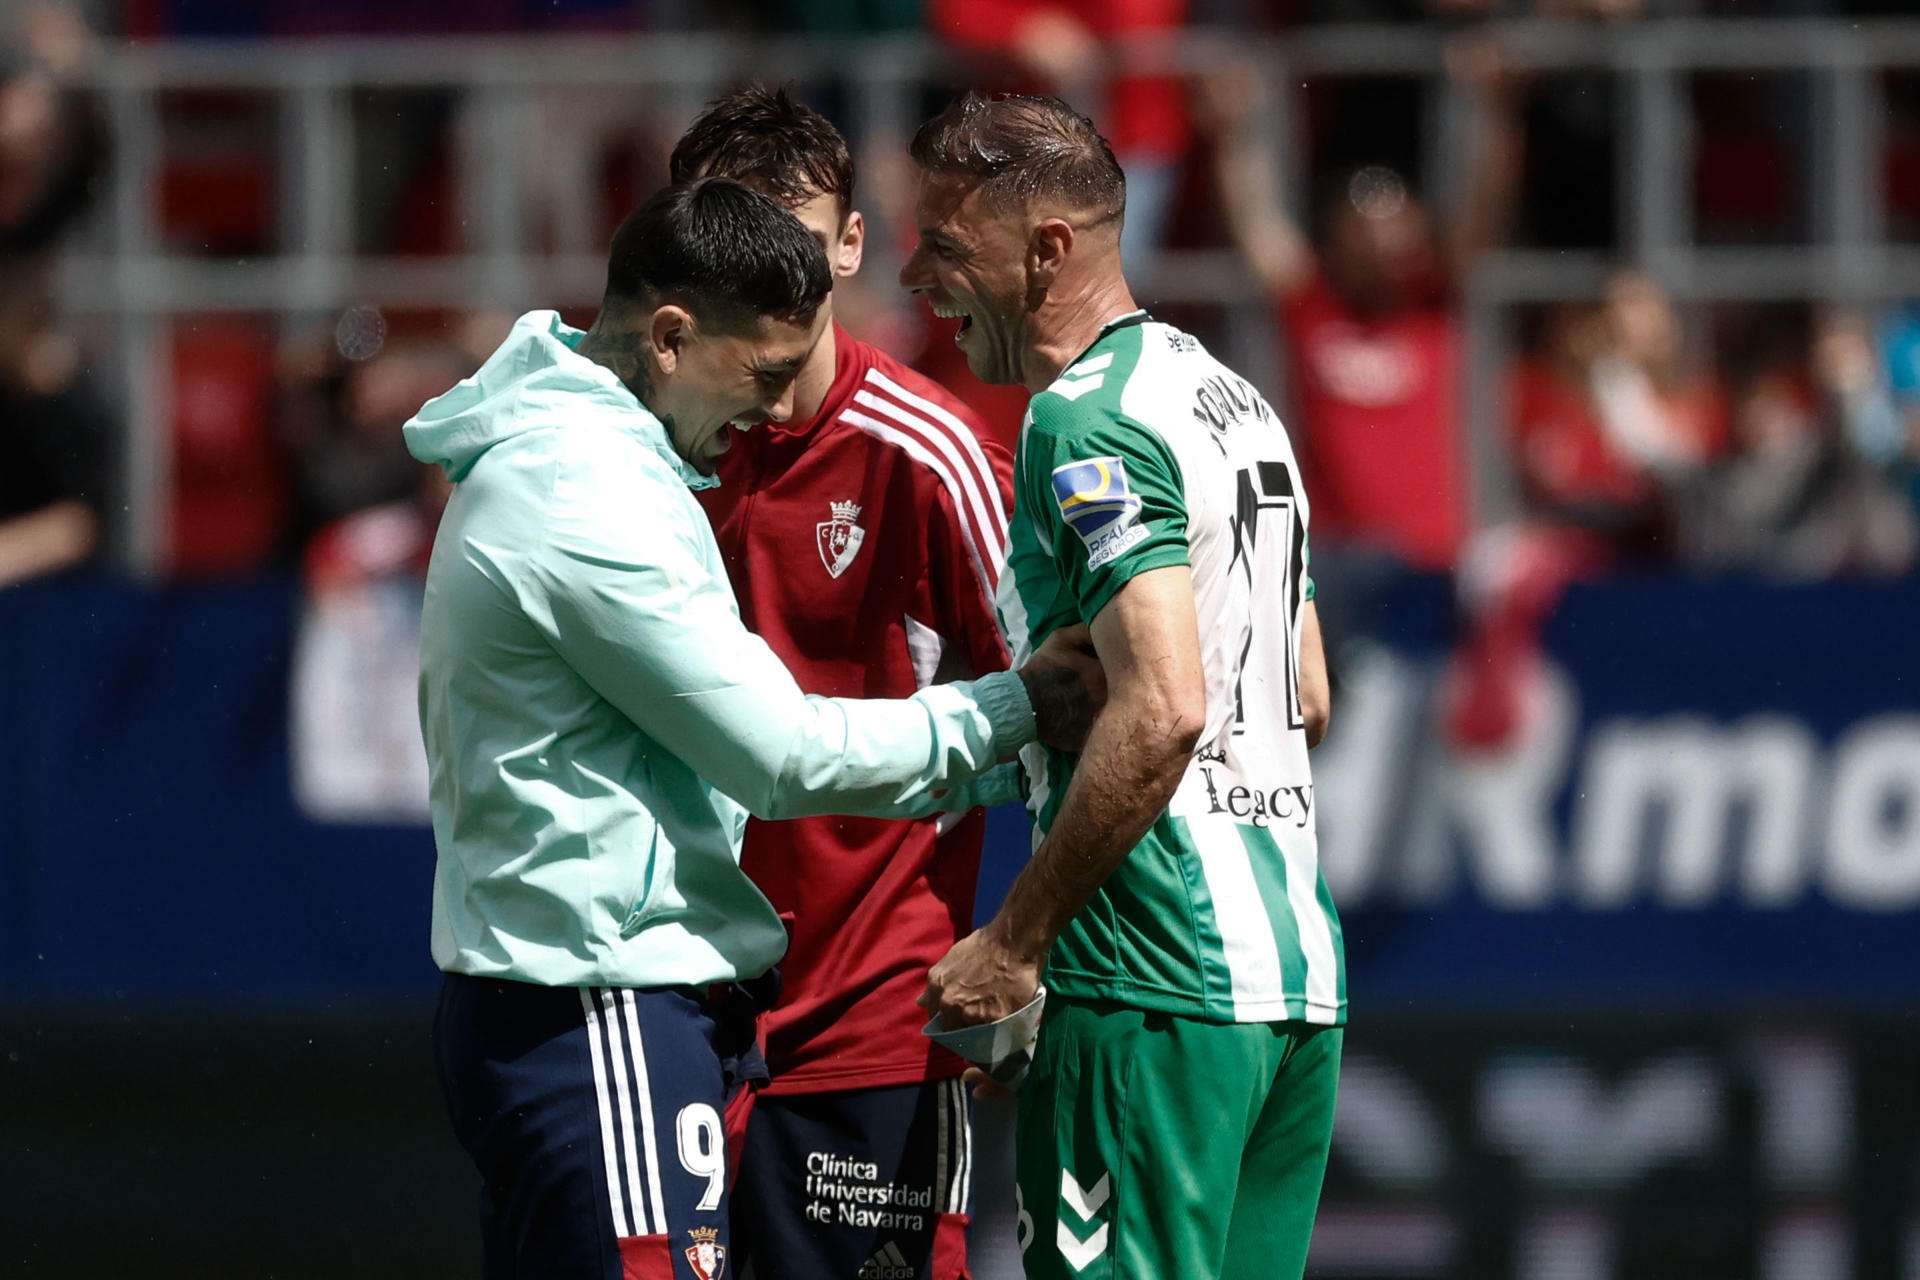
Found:
[(1453, 317), (1438, 301), (1359, 317), (1315, 273), (1281, 328), (1315, 539), (1452, 568), (1467, 524)]

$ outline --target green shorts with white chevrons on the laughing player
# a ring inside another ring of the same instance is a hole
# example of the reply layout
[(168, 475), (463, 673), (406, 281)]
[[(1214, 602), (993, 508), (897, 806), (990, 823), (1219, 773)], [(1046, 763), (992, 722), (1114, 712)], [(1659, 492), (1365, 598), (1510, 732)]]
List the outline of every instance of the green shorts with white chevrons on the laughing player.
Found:
[(1340, 1038), (1048, 998), (1020, 1090), (1027, 1278), (1298, 1278)]

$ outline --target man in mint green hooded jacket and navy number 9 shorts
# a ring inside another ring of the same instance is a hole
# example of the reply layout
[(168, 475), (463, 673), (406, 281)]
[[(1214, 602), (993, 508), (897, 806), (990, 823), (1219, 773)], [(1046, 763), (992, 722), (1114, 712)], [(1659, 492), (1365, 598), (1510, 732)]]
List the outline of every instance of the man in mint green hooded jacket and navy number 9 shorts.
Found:
[[(1071, 664), (899, 702), (804, 697), (741, 622), (695, 487), (781, 420), (831, 286), (812, 236), (726, 180), (614, 238), (586, 332), (522, 317), (407, 422), (455, 482), (420, 635), (436, 1055), (484, 1176), (488, 1276), (726, 1265), (728, 1059), (785, 931), (747, 814), (925, 814), (1071, 739)], [(812, 555), (797, 547), (795, 555)], [(1054, 710), (1054, 702), (1062, 710)], [(1012, 793), (1008, 793), (1010, 796)]]

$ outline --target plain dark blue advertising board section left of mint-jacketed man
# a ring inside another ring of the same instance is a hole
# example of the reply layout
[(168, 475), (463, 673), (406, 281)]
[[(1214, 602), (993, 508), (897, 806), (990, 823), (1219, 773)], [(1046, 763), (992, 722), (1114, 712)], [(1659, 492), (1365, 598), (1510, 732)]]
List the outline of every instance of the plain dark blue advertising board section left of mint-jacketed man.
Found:
[(294, 804), (292, 580), (0, 595), (0, 996), (378, 1002), (434, 990), (424, 827)]

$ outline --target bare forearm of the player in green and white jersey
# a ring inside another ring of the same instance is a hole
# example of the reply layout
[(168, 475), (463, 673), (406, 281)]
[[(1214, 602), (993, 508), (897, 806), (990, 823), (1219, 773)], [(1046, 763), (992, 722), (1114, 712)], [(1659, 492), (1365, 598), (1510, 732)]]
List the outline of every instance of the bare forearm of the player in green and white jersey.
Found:
[(1046, 839), (987, 929), (1016, 954), (1044, 958), (1167, 808), (1192, 758), (1192, 737), (1165, 710), (1108, 706), (1087, 737)]

